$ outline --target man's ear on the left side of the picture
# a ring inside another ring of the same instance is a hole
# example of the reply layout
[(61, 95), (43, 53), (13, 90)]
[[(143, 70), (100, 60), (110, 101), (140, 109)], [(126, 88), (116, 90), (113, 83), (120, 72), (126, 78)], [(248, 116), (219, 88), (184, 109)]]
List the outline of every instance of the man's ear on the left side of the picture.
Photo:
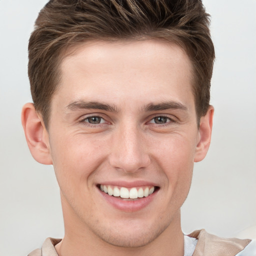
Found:
[(48, 132), (42, 117), (36, 112), (32, 103), (23, 106), (21, 123), (33, 158), (43, 164), (52, 164)]

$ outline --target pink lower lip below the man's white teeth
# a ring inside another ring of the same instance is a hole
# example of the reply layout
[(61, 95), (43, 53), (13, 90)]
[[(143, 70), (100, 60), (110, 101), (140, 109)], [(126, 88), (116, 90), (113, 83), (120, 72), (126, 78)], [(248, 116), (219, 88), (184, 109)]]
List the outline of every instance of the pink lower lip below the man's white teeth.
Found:
[(126, 211), (126, 212), (134, 212), (139, 211), (145, 208), (155, 197), (158, 190), (148, 195), (147, 197), (138, 198), (136, 200), (123, 200), (119, 197), (115, 197), (112, 195), (108, 195), (107, 193), (98, 189), (103, 198), (110, 203), (113, 207), (118, 210)]

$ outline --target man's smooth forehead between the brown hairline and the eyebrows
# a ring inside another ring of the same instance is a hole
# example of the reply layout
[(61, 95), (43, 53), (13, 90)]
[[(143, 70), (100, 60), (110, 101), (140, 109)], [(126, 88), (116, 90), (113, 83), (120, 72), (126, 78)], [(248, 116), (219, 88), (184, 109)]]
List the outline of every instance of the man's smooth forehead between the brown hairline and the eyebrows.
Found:
[(66, 100), (104, 97), (118, 104), (129, 96), (146, 104), (148, 98), (186, 101), (190, 99), (184, 96), (192, 95), (189, 57), (181, 47), (163, 40), (85, 42), (70, 49), (60, 69), (56, 94)]

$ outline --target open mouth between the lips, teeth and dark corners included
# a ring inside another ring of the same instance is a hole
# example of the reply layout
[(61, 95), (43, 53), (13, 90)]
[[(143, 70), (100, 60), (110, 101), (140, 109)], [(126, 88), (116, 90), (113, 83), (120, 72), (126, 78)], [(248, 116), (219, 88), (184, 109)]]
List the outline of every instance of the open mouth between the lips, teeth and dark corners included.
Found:
[(138, 200), (140, 198), (145, 198), (159, 189), (159, 187), (157, 186), (139, 186), (128, 188), (123, 186), (113, 186), (107, 184), (98, 184), (98, 188), (102, 192), (122, 200)]

